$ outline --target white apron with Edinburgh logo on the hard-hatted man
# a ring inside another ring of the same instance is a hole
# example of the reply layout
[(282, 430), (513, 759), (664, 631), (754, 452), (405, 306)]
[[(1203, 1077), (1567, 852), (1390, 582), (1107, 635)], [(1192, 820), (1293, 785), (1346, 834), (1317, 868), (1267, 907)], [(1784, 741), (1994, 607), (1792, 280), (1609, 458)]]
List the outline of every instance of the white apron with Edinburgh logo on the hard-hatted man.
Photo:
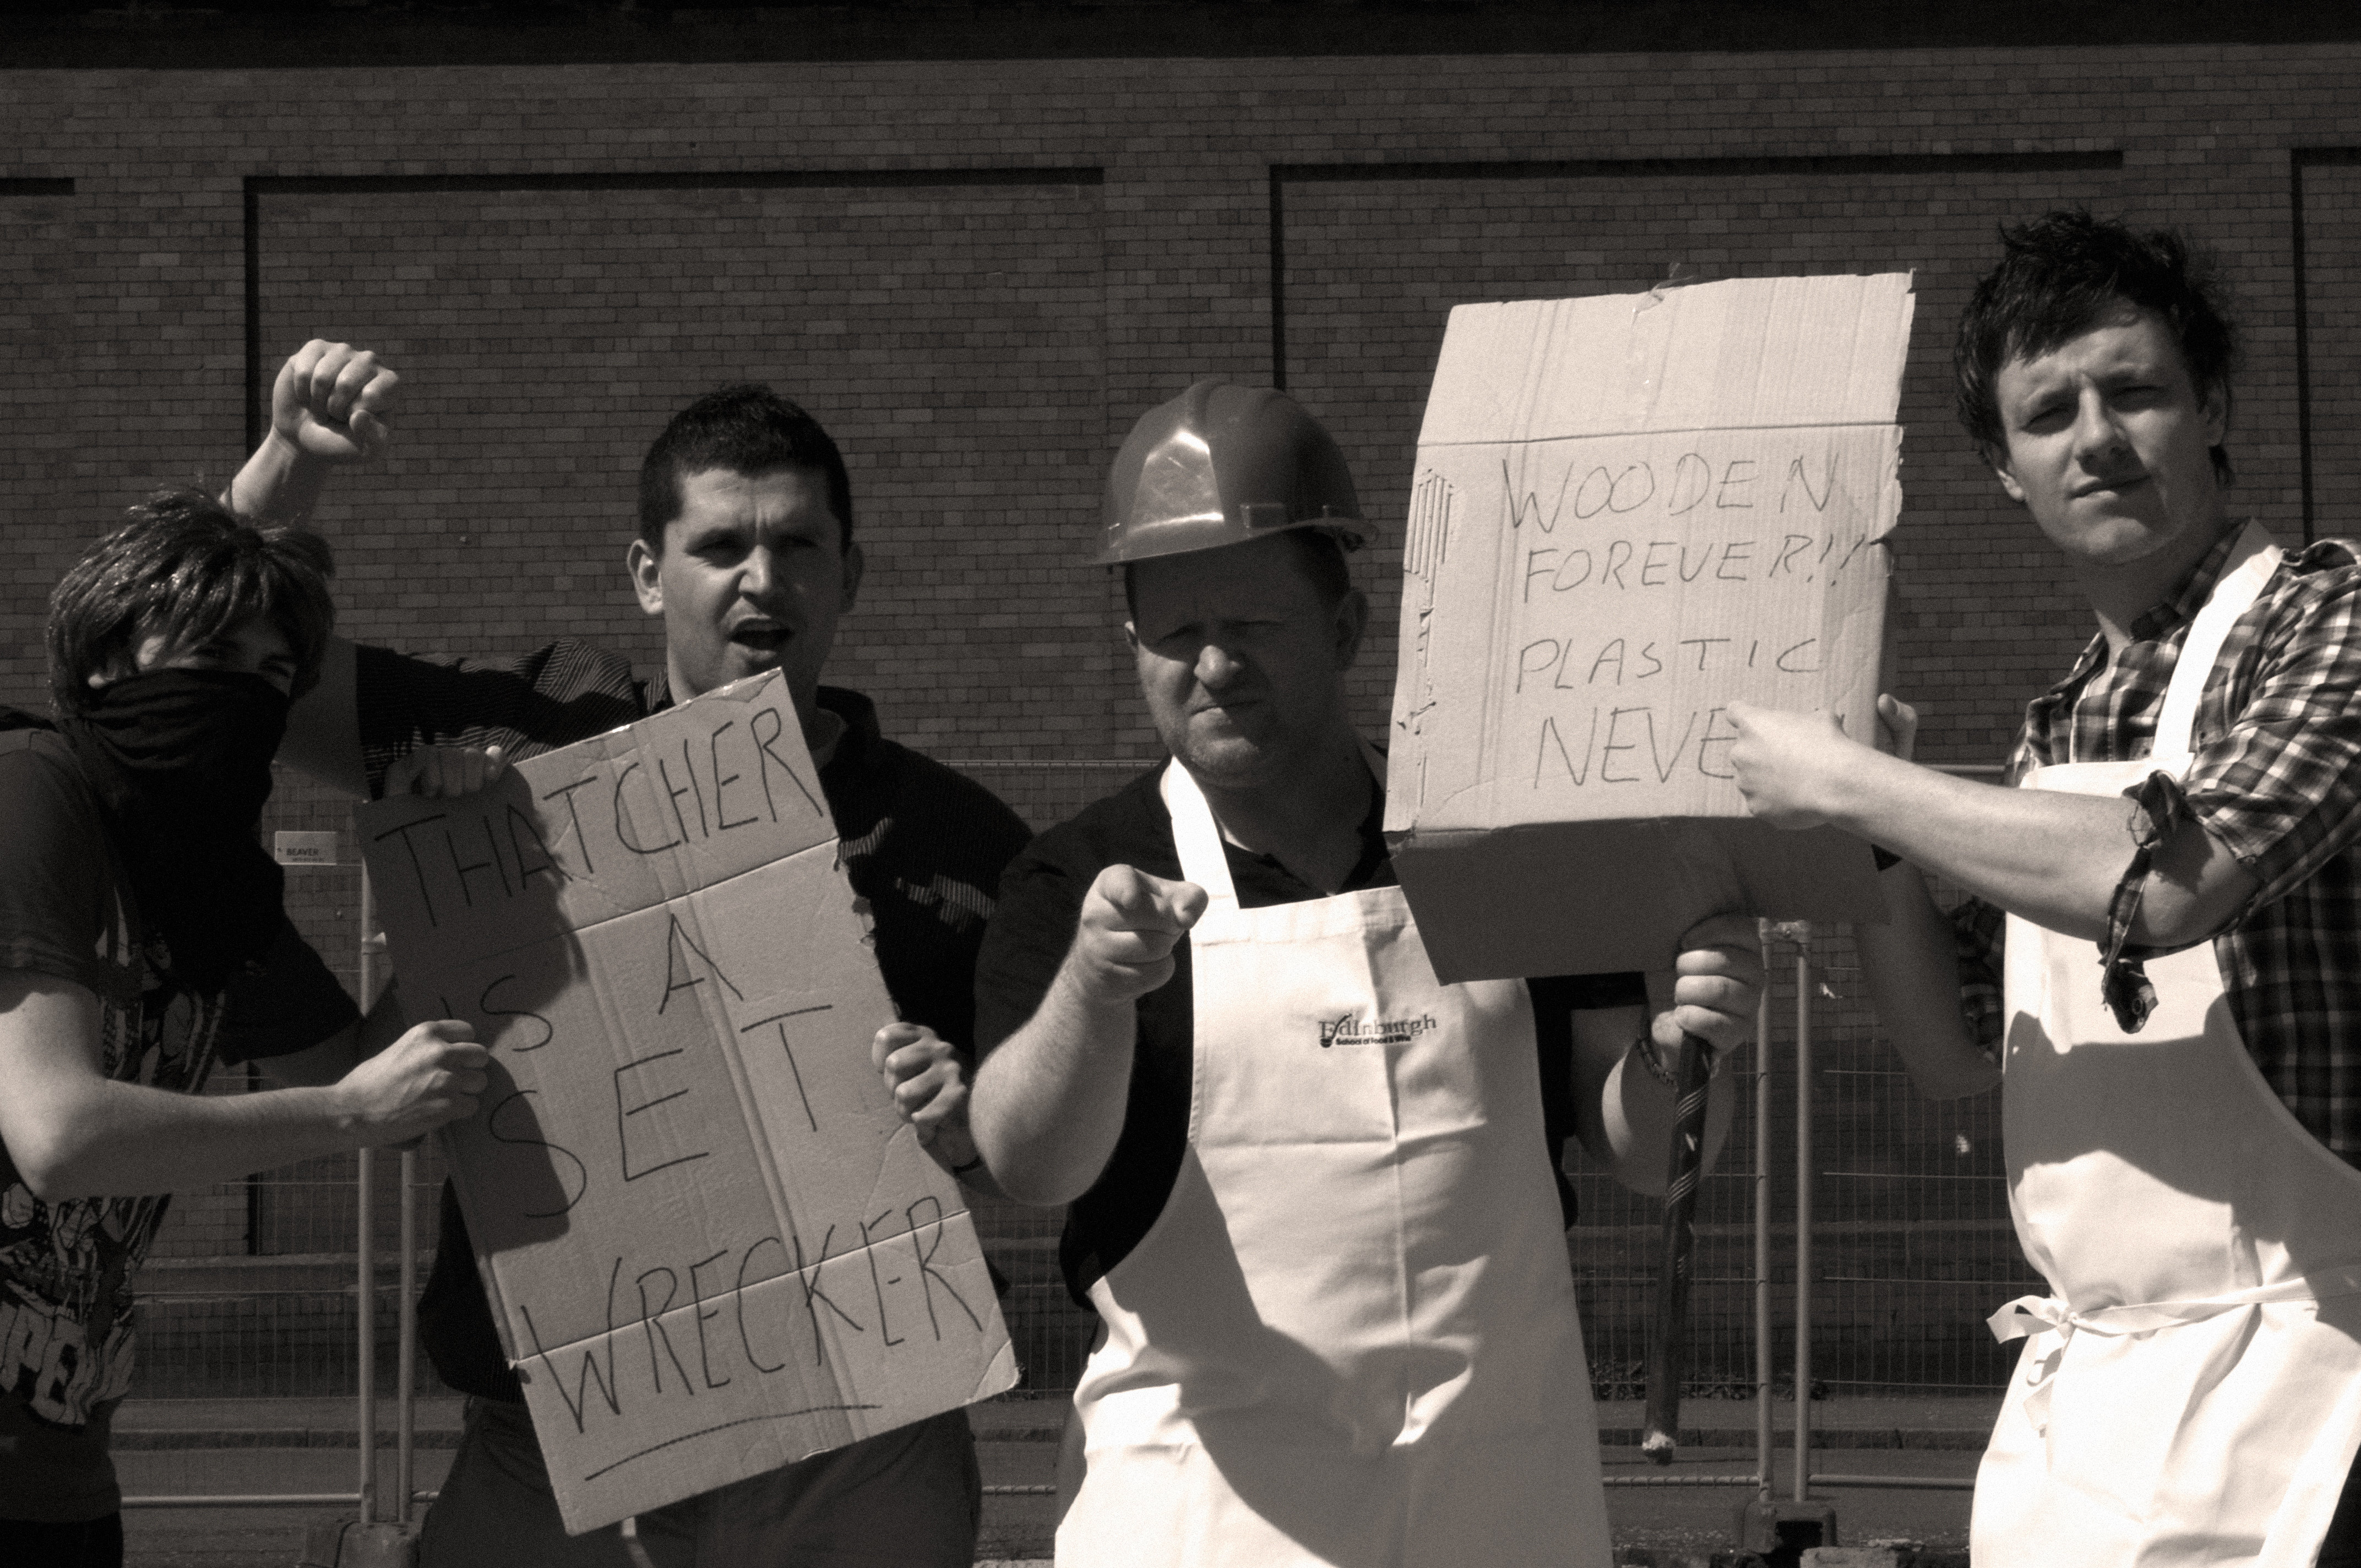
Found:
[(1440, 985), (1400, 888), (1240, 909), (1164, 801), (1211, 895), (1188, 1152), (1091, 1287), (1060, 1568), (1605, 1568), (1525, 985)]

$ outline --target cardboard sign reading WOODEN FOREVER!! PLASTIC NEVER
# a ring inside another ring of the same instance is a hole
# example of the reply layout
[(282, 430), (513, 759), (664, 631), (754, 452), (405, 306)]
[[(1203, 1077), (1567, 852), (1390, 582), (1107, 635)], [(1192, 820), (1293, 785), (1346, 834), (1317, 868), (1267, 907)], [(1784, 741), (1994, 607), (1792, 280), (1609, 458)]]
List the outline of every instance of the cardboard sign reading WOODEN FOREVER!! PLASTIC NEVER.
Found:
[(1747, 817), (1726, 708), (1875, 723), (1910, 314), (1908, 274), (1452, 309), (1386, 786), (1438, 975), (1884, 919), (1868, 845)]

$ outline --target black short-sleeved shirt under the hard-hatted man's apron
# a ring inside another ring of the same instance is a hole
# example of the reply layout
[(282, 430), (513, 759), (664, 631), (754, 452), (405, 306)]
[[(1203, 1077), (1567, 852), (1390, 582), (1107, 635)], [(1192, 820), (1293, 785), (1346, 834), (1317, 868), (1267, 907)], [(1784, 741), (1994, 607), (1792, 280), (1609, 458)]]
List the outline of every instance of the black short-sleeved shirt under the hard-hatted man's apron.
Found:
[[(1157, 782), (1157, 763), (1121, 791), (1091, 805), (1072, 822), (1055, 827), (1027, 845), (1001, 874), (1001, 907), (985, 935), (975, 966), (975, 1044), (989, 1053), (1025, 1027), (1041, 1006), (1081, 921), (1081, 900), (1091, 881), (1112, 864), (1136, 867), (1150, 876), (1180, 876), (1180, 852), (1173, 848), (1171, 812)], [(1384, 791), (1372, 789), (1362, 817), (1362, 857), (1346, 890), (1391, 888), (1393, 862), (1379, 824), (1386, 817)], [(1230, 881), (1242, 909), (1294, 904), (1322, 893), (1268, 855), (1251, 855), (1223, 843)], [(1195, 1001), (1190, 992), (1188, 940), (1173, 952), (1173, 978), (1140, 997), (1138, 1044), (1131, 1058), (1131, 1098), (1124, 1131), (1107, 1169), (1088, 1193), (1067, 1209), (1058, 1261), (1074, 1301), (1088, 1306), (1088, 1289), (1138, 1247), (1164, 1211), (1180, 1155), (1188, 1145), (1188, 1105), (1192, 1074)], [(1643, 975), (1554, 975), (1528, 980), (1532, 992), (1535, 1037), (1542, 1067), (1542, 1126), (1546, 1157), (1558, 1171), (1565, 1141), (1575, 1131), (1572, 1086), (1572, 1013), (1587, 1008), (1646, 1006)], [(1565, 1223), (1575, 1219), (1575, 1193), (1558, 1176), (1558, 1202)]]

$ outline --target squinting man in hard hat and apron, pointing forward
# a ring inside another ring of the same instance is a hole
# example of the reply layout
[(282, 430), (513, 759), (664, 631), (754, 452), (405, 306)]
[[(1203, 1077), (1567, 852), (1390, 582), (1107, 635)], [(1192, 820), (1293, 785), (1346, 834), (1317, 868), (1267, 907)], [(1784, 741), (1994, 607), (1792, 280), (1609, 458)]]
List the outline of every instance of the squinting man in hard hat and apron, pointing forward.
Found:
[(1752, 923), (1690, 930), (1662, 1011), (1435, 980), (1346, 711), (1372, 534), (1280, 392), (1197, 383), (1114, 460), (1098, 560), (1173, 760), (1001, 878), (970, 1100), (1105, 1325), (1065, 1568), (1610, 1556), (1554, 1157), (1662, 1185), (1662, 1053), (1747, 1037)]

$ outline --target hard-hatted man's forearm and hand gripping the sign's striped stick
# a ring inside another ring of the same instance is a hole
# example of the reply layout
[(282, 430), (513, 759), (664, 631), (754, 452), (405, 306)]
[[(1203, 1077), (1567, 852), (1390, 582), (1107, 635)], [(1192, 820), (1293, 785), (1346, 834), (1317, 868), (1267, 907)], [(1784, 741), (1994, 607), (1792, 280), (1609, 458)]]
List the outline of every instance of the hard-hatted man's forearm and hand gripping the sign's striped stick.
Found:
[[(1754, 1034), (1764, 963), (1754, 921), (1716, 914), (1681, 937), (1672, 973), (1648, 975), (1648, 1011), (1575, 1013), (1575, 1136), (1591, 1159), (1634, 1193), (1660, 1195), (1669, 1174), (1674, 1089), (1681, 1037), (1714, 1053), (1705, 1110), (1705, 1167), (1731, 1131), (1731, 1093), (1721, 1058)], [(1650, 1060), (1660, 1072), (1650, 1072)]]

